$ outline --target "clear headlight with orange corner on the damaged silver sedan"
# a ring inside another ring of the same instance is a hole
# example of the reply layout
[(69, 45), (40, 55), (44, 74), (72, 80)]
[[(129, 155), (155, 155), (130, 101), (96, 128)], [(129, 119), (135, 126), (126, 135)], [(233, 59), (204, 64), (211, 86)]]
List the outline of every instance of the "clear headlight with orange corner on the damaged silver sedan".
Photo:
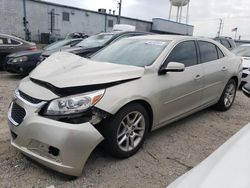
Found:
[(98, 90), (55, 99), (48, 104), (44, 114), (57, 116), (82, 113), (98, 103), (104, 93), (105, 90)]

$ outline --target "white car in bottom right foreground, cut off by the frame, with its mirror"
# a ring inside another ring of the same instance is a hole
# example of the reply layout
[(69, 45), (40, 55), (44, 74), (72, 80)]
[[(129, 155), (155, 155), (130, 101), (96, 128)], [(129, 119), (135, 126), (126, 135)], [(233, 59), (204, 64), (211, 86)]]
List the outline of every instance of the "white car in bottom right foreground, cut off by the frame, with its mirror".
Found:
[[(250, 84), (242, 88), (250, 97)], [(167, 188), (249, 188), (250, 123)]]

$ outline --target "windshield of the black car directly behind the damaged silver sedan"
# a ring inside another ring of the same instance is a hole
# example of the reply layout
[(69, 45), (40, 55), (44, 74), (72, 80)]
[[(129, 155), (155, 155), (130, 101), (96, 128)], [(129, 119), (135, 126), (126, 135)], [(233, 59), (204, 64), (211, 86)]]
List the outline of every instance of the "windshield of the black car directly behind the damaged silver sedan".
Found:
[(89, 38), (86, 38), (82, 42), (78, 43), (76, 46), (84, 47), (84, 48), (96, 48), (103, 46), (107, 41), (109, 41), (114, 34), (104, 33), (99, 35), (94, 35)]

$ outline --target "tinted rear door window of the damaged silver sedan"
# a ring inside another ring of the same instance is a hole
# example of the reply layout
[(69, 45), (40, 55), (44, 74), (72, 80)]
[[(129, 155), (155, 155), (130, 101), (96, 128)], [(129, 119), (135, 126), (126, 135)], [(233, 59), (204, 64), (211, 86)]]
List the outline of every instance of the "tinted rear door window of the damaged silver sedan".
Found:
[(201, 63), (206, 63), (209, 61), (214, 61), (218, 59), (217, 46), (213, 43), (198, 41), (200, 48)]

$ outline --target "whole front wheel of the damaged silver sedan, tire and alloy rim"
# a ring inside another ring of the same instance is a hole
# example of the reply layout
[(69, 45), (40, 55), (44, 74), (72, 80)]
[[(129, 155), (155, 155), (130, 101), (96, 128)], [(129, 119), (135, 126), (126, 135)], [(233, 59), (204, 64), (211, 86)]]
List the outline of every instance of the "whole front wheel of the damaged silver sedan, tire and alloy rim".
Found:
[(113, 157), (128, 158), (141, 148), (148, 129), (149, 116), (145, 108), (138, 103), (126, 105), (103, 125), (105, 150)]

